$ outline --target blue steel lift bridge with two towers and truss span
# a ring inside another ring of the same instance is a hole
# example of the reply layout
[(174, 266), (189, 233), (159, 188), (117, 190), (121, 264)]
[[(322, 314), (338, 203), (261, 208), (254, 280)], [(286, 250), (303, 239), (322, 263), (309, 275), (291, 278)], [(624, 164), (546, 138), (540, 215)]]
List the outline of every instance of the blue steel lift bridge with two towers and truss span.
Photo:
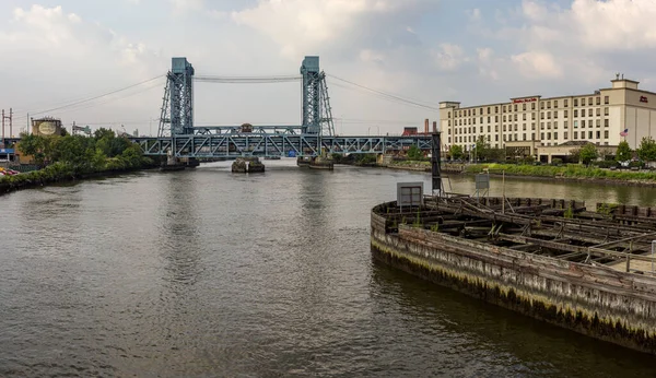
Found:
[[(194, 67), (186, 58), (173, 58), (172, 63), (157, 137), (132, 139), (139, 143), (144, 155), (232, 160), (245, 156), (316, 157), (323, 153), (385, 154), (413, 144), (421, 150), (431, 150), (430, 135), (336, 135), (326, 74), (319, 69), (319, 57), (305, 57), (301, 66), (301, 76), (294, 76), (302, 81), (303, 119), (300, 126), (245, 123), (195, 127), (194, 82), (218, 80), (212, 76), (195, 76)], [(229, 82), (249, 80), (253, 82), (254, 79), (233, 78)]]

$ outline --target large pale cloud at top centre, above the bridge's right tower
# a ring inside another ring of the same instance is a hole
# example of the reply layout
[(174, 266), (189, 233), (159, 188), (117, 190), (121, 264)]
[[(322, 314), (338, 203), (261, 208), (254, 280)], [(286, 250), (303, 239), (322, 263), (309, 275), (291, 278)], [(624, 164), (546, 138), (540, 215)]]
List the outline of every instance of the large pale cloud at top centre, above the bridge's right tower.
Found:
[(417, 44), (412, 24), (431, 0), (261, 0), (232, 12), (238, 25), (271, 38), (285, 58), (311, 51), (360, 50)]

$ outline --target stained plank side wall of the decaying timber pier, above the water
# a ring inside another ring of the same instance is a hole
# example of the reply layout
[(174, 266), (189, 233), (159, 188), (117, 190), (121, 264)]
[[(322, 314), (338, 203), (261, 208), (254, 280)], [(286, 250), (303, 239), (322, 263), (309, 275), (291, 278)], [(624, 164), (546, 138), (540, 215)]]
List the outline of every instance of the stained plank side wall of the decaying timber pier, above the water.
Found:
[(489, 303), (656, 354), (656, 279), (399, 225), (372, 212), (374, 257)]

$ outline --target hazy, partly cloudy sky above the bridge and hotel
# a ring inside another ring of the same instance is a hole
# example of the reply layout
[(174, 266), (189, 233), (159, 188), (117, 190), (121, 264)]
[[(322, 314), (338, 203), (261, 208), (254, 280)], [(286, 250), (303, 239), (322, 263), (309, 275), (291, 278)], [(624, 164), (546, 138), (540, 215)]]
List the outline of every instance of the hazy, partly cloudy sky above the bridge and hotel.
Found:
[[(653, 20), (654, 0), (2, 0), (0, 108), (14, 134), (28, 115), (154, 134), (172, 57), (273, 76), (319, 56), (337, 132), (398, 134), (444, 101), (587, 94), (618, 72), (656, 91)], [(301, 122), (298, 83), (194, 95), (197, 126)]]

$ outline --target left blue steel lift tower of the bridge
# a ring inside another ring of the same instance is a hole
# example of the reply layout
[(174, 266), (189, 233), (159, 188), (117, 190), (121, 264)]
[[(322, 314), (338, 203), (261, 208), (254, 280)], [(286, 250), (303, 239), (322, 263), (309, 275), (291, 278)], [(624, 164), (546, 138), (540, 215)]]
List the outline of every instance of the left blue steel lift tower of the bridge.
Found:
[(173, 58), (166, 75), (157, 137), (194, 133), (194, 67), (187, 58)]

